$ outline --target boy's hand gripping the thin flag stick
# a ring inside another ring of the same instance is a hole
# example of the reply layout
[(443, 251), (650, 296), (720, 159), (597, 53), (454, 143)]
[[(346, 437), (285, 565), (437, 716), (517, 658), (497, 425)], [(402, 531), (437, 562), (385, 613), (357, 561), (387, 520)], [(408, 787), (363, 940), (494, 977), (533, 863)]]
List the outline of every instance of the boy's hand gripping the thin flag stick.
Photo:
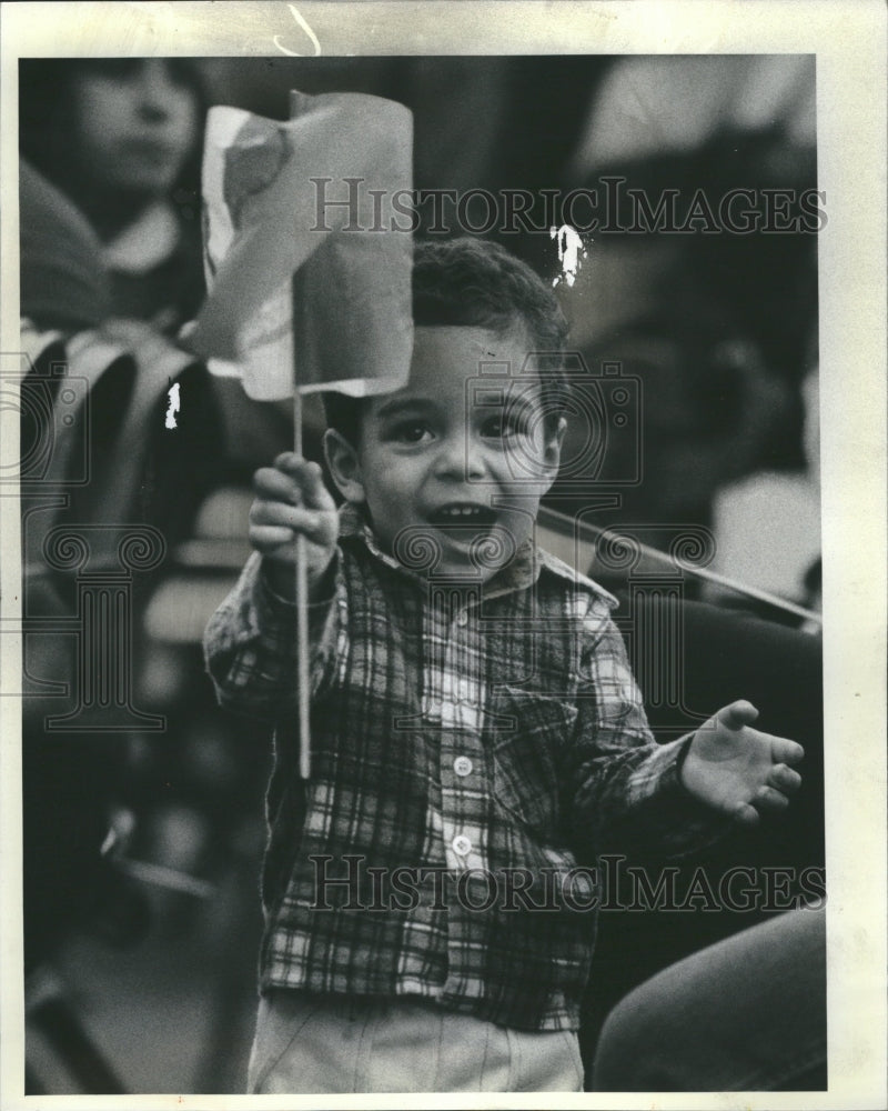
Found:
[(250, 543), (260, 552), (272, 588), (284, 598), (295, 594), (296, 534), (305, 537), (309, 593), (316, 593), (333, 559), (339, 534), (336, 506), (317, 463), (285, 451), (273, 467), (253, 476)]

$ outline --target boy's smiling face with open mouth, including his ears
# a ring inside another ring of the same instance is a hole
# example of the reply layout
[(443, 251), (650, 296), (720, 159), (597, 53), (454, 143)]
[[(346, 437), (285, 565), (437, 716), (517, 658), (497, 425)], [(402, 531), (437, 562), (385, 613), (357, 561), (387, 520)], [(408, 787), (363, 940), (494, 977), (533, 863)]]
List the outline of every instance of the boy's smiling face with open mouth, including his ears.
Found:
[[(539, 381), (521, 374), (528, 350), (519, 328), (420, 327), (407, 386), (364, 403), (359, 443), (327, 431), (336, 484), (383, 550), (424, 536), (441, 550), (436, 573), (487, 579), (533, 534), (564, 421), (544, 422)], [(482, 374), (486, 362), (498, 366)]]

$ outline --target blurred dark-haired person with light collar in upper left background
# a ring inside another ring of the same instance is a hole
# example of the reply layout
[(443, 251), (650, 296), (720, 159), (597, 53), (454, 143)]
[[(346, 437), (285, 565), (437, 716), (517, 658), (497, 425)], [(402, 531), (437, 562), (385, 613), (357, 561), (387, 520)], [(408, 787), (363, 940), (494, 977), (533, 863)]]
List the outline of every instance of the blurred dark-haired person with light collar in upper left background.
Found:
[[(48, 73), (51, 64), (57, 72)], [(188, 59), (21, 62), (21, 151), (95, 231), (112, 313), (174, 333), (204, 286), (200, 74)]]

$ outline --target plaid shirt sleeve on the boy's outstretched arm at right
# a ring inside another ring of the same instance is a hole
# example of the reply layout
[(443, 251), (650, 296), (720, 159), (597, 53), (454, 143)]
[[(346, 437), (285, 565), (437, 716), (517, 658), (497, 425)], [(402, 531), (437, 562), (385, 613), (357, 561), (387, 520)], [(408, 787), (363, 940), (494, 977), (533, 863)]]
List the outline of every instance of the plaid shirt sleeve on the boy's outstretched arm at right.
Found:
[(731, 821), (695, 799), (680, 769), (693, 734), (658, 744), (623, 637), (603, 599), (584, 619), (578, 727), (568, 758), (574, 825), (595, 851), (680, 857), (719, 840)]

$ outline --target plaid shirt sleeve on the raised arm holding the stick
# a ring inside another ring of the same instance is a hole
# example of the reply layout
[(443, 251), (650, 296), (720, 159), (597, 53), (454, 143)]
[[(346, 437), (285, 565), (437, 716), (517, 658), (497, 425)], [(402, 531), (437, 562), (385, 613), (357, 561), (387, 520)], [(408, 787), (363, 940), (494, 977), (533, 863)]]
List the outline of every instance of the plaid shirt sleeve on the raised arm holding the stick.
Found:
[[(337, 659), (347, 652), (341, 562), (337, 551), (329, 597), (309, 605), (312, 698), (330, 685)], [(220, 705), (268, 721), (295, 705), (296, 605), (271, 589), (258, 552), (210, 619), (203, 649)]]

